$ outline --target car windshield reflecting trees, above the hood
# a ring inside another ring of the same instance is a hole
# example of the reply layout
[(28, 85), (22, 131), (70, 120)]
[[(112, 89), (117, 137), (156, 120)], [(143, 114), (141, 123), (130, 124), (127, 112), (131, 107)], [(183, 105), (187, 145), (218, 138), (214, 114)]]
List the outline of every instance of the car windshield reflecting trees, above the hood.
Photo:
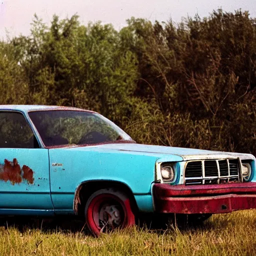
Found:
[(132, 141), (122, 129), (98, 113), (49, 110), (28, 115), (45, 146)]

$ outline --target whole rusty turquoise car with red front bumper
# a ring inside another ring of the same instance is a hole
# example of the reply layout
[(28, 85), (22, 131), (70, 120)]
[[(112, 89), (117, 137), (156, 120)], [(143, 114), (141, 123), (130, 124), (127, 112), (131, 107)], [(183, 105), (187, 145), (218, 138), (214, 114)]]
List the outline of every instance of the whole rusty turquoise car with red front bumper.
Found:
[(251, 154), (138, 144), (74, 107), (0, 105), (0, 215), (78, 215), (99, 235), (140, 213), (196, 219), (250, 208)]

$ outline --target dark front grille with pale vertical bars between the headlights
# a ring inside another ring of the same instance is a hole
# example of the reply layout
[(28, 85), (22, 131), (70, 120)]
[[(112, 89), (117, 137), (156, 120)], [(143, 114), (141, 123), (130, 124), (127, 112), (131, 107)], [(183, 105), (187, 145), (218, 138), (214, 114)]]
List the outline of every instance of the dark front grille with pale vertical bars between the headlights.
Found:
[(185, 184), (240, 182), (239, 159), (189, 161), (185, 167)]

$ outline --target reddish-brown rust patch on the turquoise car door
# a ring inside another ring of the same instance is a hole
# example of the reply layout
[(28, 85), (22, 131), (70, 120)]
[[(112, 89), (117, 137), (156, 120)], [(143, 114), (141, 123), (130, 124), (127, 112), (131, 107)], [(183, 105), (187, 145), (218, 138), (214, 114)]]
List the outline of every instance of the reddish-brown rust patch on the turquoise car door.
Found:
[(19, 184), (22, 180), (26, 181), (28, 184), (33, 184), (33, 170), (26, 165), (20, 168), (16, 158), (12, 161), (4, 159), (4, 165), (0, 165), (0, 180), (10, 181), (12, 185)]

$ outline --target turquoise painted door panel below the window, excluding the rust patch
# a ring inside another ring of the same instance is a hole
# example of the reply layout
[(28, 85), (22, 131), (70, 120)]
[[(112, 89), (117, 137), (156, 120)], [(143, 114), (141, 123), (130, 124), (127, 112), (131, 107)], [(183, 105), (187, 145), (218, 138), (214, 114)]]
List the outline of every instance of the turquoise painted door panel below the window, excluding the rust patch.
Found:
[(50, 199), (48, 150), (43, 148), (0, 148), (0, 164), (4, 159), (16, 158), (20, 168), (27, 165), (33, 170), (34, 181), (12, 184), (0, 180), (0, 208), (53, 209)]

